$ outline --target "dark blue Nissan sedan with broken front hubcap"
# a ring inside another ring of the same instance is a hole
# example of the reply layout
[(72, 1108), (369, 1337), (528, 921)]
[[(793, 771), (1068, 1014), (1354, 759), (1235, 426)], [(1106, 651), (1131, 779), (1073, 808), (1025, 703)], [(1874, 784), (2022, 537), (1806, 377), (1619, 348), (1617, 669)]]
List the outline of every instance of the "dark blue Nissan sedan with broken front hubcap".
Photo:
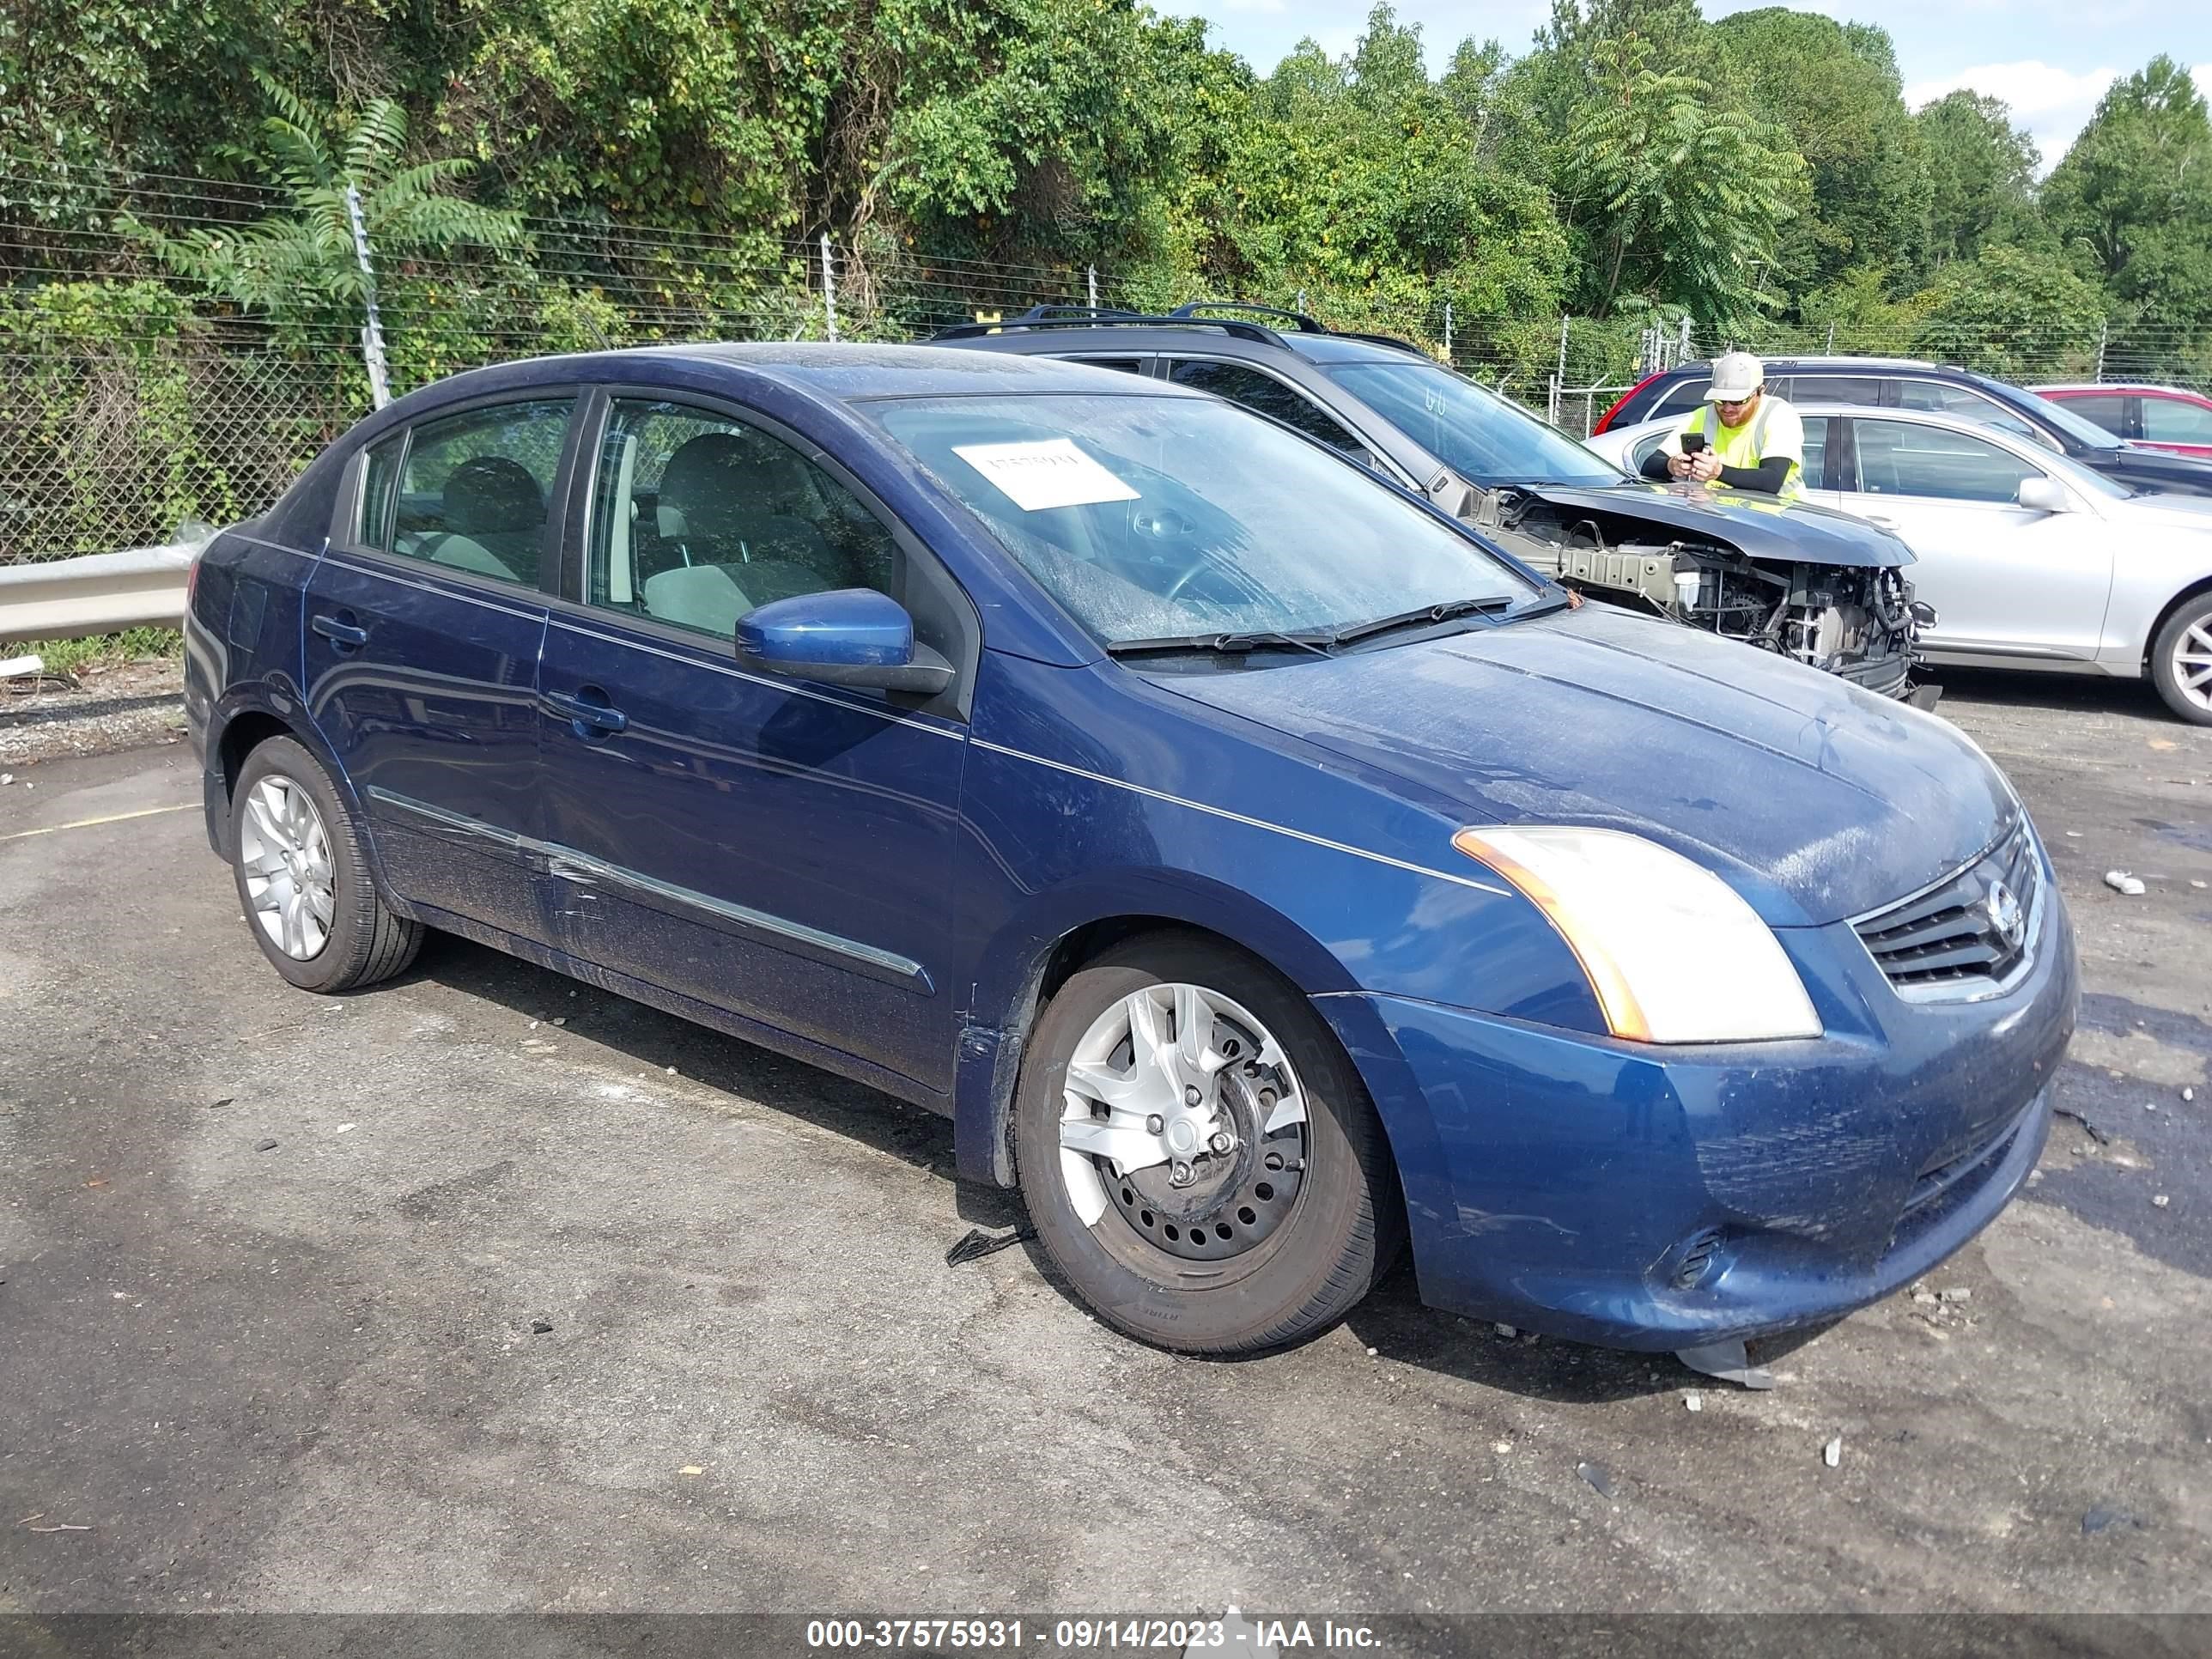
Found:
[(2026, 1179), (2066, 907), (1951, 726), (1568, 595), (1203, 394), (929, 347), (462, 374), (199, 560), (208, 836), (947, 1113), (1119, 1329), (1725, 1352)]

